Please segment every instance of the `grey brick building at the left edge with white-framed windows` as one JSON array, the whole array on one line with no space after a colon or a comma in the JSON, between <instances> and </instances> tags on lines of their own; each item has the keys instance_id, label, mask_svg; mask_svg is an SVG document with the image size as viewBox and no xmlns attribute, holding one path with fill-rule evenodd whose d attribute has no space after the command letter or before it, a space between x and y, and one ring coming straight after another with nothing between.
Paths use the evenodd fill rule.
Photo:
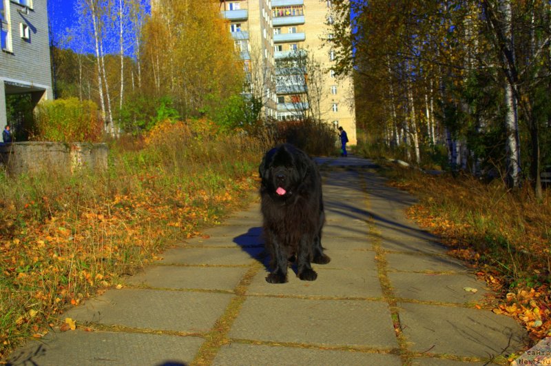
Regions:
<instances>
[{"instance_id":1,"label":"grey brick building at the left edge with white-framed windows","mask_svg":"<svg viewBox=\"0 0 551 366\"><path fill-rule=\"evenodd\" d=\"M0 126L17 133L17 121L7 121L7 95L30 94L34 105L53 99L46 1L0 0L0 41Z\"/></svg>"}]
</instances>

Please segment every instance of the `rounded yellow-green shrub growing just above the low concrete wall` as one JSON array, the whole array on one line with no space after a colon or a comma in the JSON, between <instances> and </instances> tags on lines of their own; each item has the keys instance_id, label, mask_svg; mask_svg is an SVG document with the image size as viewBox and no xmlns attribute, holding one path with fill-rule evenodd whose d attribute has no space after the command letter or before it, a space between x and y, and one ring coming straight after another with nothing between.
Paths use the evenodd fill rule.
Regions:
<instances>
[{"instance_id":1,"label":"rounded yellow-green shrub growing just above the low concrete wall","mask_svg":"<svg viewBox=\"0 0 551 366\"><path fill-rule=\"evenodd\" d=\"M34 121L35 141L98 142L103 131L96 104L76 98L39 103Z\"/></svg>"}]
</instances>

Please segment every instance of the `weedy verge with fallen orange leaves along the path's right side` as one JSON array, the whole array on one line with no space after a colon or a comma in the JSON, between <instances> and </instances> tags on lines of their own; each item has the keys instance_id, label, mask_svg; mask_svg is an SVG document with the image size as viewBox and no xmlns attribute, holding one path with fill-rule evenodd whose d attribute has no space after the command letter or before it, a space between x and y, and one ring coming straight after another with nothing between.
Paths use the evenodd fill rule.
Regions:
<instances>
[{"instance_id":1,"label":"weedy verge with fallen orange leaves along the path's right side","mask_svg":"<svg viewBox=\"0 0 551 366\"><path fill-rule=\"evenodd\" d=\"M498 182L382 170L419 203L407 214L439 235L450 253L470 262L499 291L493 312L514 316L534 340L551 335L551 192L508 192Z\"/></svg>"}]
</instances>

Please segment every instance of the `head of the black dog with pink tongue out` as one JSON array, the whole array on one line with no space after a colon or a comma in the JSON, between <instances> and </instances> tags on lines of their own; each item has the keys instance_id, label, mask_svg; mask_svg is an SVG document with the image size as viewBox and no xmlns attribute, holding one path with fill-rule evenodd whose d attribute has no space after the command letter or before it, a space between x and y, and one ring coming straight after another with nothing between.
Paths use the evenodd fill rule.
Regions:
<instances>
[{"instance_id":1,"label":"head of the black dog with pink tongue out","mask_svg":"<svg viewBox=\"0 0 551 366\"><path fill-rule=\"evenodd\" d=\"M262 190L275 199L287 199L293 195L308 172L306 154L293 145L283 144L264 155L258 172Z\"/></svg>"}]
</instances>

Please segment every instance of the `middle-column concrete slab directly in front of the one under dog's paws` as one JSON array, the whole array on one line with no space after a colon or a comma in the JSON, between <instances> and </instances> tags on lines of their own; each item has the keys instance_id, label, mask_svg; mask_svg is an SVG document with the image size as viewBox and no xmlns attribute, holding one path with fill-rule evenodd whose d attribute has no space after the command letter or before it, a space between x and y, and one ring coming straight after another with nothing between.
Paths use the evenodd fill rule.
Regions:
<instances>
[{"instance_id":1,"label":"middle-column concrete slab directly in front of the one under dog's paws","mask_svg":"<svg viewBox=\"0 0 551 366\"><path fill-rule=\"evenodd\" d=\"M229 338L302 344L397 347L391 312L378 301L247 297Z\"/></svg>"}]
</instances>

